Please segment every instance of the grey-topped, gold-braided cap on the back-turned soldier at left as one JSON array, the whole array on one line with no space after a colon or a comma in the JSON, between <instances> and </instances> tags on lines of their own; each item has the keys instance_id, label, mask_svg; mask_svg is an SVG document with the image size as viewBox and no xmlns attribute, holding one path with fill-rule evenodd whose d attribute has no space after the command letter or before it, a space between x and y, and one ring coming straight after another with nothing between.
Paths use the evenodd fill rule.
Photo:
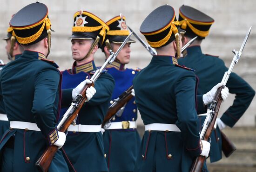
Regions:
<instances>
[{"instance_id":1,"label":"grey-topped, gold-braided cap on the back-turned soldier at left","mask_svg":"<svg viewBox=\"0 0 256 172\"><path fill-rule=\"evenodd\" d=\"M13 35L21 45L32 45L47 37L51 29L48 8L36 2L23 7L10 20Z\"/></svg>"}]
</instances>

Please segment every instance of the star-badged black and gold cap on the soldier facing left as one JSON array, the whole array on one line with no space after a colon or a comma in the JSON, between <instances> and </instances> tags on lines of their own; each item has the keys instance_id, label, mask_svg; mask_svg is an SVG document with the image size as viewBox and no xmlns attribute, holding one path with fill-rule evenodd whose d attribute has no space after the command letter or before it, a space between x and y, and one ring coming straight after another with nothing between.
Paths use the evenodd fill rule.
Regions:
<instances>
[{"instance_id":1,"label":"star-badged black and gold cap on the soldier facing left","mask_svg":"<svg viewBox=\"0 0 256 172\"><path fill-rule=\"evenodd\" d=\"M108 25L100 18L80 10L74 13L74 25L70 39L96 39L98 36L99 44L102 45L108 30Z\"/></svg>"}]
</instances>

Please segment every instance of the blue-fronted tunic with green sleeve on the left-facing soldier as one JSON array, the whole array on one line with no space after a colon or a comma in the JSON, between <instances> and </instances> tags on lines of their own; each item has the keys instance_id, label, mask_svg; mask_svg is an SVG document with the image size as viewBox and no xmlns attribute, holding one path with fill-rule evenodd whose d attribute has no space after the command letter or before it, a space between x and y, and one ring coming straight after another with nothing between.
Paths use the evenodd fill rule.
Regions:
<instances>
[{"instance_id":1,"label":"blue-fronted tunic with green sleeve on the left-facing soldier","mask_svg":"<svg viewBox=\"0 0 256 172\"><path fill-rule=\"evenodd\" d=\"M71 105L72 98L67 100L66 96L72 93L72 89L86 78L90 79L96 67L94 61L77 66L73 64L72 69L62 72L62 89L70 89L70 93L62 94L61 115ZM115 86L115 81L108 73L102 73L95 82L96 93L93 98L84 103L77 117L76 124L100 125L104 115L108 111L108 103ZM72 88L72 89L71 89ZM63 146L63 153L73 172L105 172L108 171L104 157L104 146L101 132L68 132L67 140Z\"/></svg>"}]
</instances>

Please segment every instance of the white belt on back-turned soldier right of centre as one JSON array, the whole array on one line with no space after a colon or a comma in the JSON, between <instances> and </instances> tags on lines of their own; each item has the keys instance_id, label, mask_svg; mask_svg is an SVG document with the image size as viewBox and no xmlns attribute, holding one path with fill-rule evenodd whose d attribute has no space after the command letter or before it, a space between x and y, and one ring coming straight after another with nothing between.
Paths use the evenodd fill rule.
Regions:
<instances>
[{"instance_id":1,"label":"white belt on back-turned soldier right of centre","mask_svg":"<svg viewBox=\"0 0 256 172\"><path fill-rule=\"evenodd\" d=\"M176 131L181 132L175 124L162 124L162 123L153 123L145 125L145 131Z\"/></svg>"}]
</instances>

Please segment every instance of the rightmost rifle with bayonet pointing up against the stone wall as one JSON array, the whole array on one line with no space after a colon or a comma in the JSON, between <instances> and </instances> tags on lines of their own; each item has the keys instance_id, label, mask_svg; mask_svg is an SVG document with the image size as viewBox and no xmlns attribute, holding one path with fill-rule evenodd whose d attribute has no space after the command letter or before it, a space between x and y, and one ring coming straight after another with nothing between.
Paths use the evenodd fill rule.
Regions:
<instances>
[{"instance_id":1,"label":"rightmost rifle with bayonet pointing up against the stone wall","mask_svg":"<svg viewBox=\"0 0 256 172\"><path fill-rule=\"evenodd\" d=\"M222 103L221 90L225 87L225 85L229 79L230 73L233 70L234 65L238 63L238 60L240 59L240 57L242 55L242 51L247 42L247 39L249 38L250 31L251 31L251 27L249 28L249 30L243 40L243 44L242 44L240 50L232 51L235 55L234 55L233 60L229 66L229 70L225 72L225 74L222 78L223 86L217 89L214 100L212 101L209 108L207 109L207 115L206 115L205 121L203 123L202 130L200 132L201 140L206 140L206 141L209 140L212 130L216 128L216 119L217 119L217 115L219 112L219 108ZM201 156L201 155L196 157L190 172L201 172L205 159L206 159L205 156Z\"/></svg>"}]
</instances>

